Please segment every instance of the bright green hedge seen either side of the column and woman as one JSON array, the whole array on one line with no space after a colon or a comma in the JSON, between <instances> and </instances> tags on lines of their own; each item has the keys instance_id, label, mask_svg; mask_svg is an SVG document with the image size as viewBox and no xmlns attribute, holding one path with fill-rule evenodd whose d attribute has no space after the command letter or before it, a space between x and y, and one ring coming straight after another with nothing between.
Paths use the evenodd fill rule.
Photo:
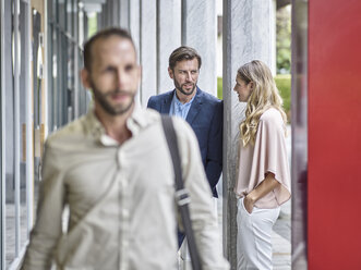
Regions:
<instances>
[{"instance_id":1,"label":"bright green hedge seen either side of the column and woman","mask_svg":"<svg viewBox=\"0 0 361 270\"><path fill-rule=\"evenodd\" d=\"M288 121L290 121L291 111L291 75L290 74L278 74L275 77L277 88L280 96L284 99L284 109L287 113ZM232 90L232 89L230 89ZM222 78L217 77L217 96L222 99Z\"/></svg>"}]
</instances>

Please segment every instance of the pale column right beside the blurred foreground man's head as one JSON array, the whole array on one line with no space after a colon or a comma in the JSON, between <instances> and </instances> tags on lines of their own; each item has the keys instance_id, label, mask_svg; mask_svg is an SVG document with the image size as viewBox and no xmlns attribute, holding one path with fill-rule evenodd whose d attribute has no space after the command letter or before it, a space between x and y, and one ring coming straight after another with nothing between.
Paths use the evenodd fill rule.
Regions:
<instances>
[{"instance_id":1,"label":"pale column right beside the blurred foreground man's head","mask_svg":"<svg viewBox=\"0 0 361 270\"><path fill-rule=\"evenodd\" d=\"M141 103L157 94L157 2L141 0ZM168 36L168 38L171 38Z\"/></svg>"}]
</instances>

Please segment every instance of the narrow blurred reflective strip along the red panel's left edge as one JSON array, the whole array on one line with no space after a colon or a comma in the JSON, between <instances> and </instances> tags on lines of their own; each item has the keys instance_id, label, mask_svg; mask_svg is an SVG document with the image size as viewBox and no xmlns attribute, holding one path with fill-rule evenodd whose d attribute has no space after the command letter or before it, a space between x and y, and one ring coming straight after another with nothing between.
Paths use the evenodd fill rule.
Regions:
<instances>
[{"instance_id":1,"label":"narrow blurred reflective strip along the red panel's left edge","mask_svg":"<svg viewBox=\"0 0 361 270\"><path fill-rule=\"evenodd\" d=\"M292 269L306 269L308 1L292 2Z\"/></svg>"}]
</instances>

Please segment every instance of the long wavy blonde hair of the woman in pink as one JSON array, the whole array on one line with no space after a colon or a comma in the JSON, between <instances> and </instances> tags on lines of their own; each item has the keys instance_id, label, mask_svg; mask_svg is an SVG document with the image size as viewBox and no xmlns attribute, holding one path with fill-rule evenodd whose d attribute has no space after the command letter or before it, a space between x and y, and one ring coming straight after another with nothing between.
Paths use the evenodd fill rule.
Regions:
<instances>
[{"instance_id":1,"label":"long wavy blonde hair of the woman in pink","mask_svg":"<svg viewBox=\"0 0 361 270\"><path fill-rule=\"evenodd\" d=\"M239 68L237 76L246 85L253 83L252 93L246 101L245 119L240 124L240 137L243 146L254 145L261 115L269 108L277 109L284 123L287 116L282 109L282 98L279 96L275 79L268 66L260 60L253 60Z\"/></svg>"}]
</instances>

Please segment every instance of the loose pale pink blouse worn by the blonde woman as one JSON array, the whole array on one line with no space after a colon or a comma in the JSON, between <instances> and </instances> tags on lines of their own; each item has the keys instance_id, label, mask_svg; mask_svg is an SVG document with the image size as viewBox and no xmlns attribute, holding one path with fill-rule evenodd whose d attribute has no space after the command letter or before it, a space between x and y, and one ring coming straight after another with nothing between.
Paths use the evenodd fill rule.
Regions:
<instances>
[{"instance_id":1,"label":"loose pale pink blouse worn by the blonde woman","mask_svg":"<svg viewBox=\"0 0 361 270\"><path fill-rule=\"evenodd\" d=\"M274 108L261 115L254 146L243 147L240 142L236 195L243 197L252 192L267 172L274 173L280 185L258 199L254 205L257 208L276 208L291 196L285 124L280 112Z\"/></svg>"}]
</instances>

